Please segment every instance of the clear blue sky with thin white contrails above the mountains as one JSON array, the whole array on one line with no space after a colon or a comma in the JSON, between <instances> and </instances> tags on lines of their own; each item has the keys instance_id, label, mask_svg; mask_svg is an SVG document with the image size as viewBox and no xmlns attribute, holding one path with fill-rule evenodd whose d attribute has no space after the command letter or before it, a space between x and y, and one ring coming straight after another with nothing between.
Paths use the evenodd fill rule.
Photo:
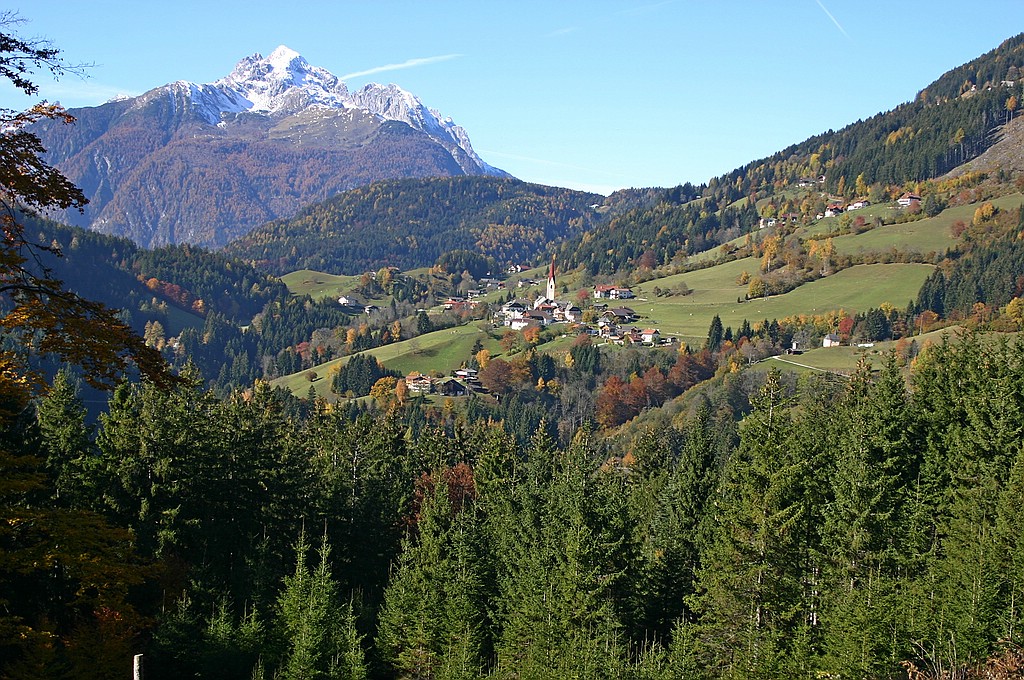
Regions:
<instances>
[{"instance_id":1,"label":"clear blue sky with thin white contrails above the mountains","mask_svg":"<svg viewBox=\"0 0 1024 680\"><path fill-rule=\"evenodd\" d=\"M466 128L492 165L609 193L707 181L914 97L1024 32L1024 2L32 0L23 36L89 77L40 95L95 105L212 82L280 44L393 82ZM0 105L32 100L0 88Z\"/></svg>"}]
</instances>

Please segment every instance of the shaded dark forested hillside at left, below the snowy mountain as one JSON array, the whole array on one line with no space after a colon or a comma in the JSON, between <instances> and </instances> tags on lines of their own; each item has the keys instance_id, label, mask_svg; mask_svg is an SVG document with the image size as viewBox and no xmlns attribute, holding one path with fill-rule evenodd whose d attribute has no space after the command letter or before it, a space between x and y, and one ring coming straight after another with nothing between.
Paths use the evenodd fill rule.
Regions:
<instances>
[{"instance_id":1,"label":"shaded dark forested hillside at left, below the snowy mountain","mask_svg":"<svg viewBox=\"0 0 1024 680\"><path fill-rule=\"evenodd\" d=\"M178 368L195 365L221 393L264 377L263 356L351 318L333 300L293 297L280 280L203 248L145 250L56 222L26 223L39 243L60 253L42 253L39 264L68 290L120 310L150 346ZM254 318L257 327L247 332Z\"/></svg>"}]
</instances>

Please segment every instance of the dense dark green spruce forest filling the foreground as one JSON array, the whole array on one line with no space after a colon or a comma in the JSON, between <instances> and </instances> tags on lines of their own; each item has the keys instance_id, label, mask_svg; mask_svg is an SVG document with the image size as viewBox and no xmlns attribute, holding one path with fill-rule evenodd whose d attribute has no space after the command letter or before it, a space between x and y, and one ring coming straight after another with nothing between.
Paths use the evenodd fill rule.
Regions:
<instances>
[{"instance_id":1,"label":"dense dark green spruce forest filling the foreground","mask_svg":"<svg viewBox=\"0 0 1024 680\"><path fill-rule=\"evenodd\" d=\"M36 530L4 529L0 668L975 677L1021 653L1021 358L967 336L909 387L895 357L770 372L738 425L707 392L622 445L195 383L124 386L93 433L65 376L5 421L4 479L35 483L0 502Z\"/></svg>"}]
</instances>

